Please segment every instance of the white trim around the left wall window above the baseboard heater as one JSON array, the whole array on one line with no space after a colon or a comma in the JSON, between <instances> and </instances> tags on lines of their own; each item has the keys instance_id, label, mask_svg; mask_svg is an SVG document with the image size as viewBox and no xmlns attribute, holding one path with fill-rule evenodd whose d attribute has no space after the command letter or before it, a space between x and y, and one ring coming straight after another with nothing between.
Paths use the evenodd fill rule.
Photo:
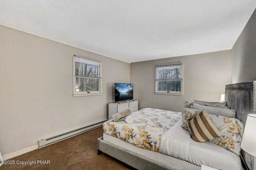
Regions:
<instances>
[{"instance_id":1,"label":"white trim around the left wall window above the baseboard heater","mask_svg":"<svg viewBox=\"0 0 256 170\"><path fill-rule=\"evenodd\" d=\"M75 68L75 63L76 63L76 57L82 57L80 55L74 55L73 56L73 96L74 97L78 97L78 96L95 96L95 95L102 95L102 63L98 60L93 60L93 59L90 59L90 58L86 58L86 57L82 57L84 59L88 59L88 60L91 60L91 61L96 61L99 63L100 65L100 75L101 75L101 78L100 78L100 82L99 82L99 89L100 91L90 91L90 93L88 92L76 92L76 68Z\"/></svg>"}]
</instances>

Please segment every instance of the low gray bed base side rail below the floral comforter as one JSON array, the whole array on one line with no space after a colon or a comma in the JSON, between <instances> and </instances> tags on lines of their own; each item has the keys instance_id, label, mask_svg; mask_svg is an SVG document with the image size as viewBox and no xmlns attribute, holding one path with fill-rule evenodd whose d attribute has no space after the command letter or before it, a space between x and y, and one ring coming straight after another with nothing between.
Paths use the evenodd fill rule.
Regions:
<instances>
[{"instance_id":1,"label":"low gray bed base side rail below the floral comforter","mask_svg":"<svg viewBox=\"0 0 256 170\"><path fill-rule=\"evenodd\" d=\"M130 150L112 144L103 140L103 136L98 138L98 154L102 152L136 168L138 170L200 170L200 166L196 166L184 160L173 158L172 167L166 166L140 154L136 154ZM171 156L170 156L171 157Z\"/></svg>"}]
</instances>

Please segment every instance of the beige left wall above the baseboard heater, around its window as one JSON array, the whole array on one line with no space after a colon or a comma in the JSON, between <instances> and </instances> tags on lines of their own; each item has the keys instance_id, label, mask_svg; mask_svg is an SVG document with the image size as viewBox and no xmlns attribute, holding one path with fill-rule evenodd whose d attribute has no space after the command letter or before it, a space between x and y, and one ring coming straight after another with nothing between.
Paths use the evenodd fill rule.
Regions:
<instances>
[{"instance_id":1,"label":"beige left wall above the baseboard heater, around its window","mask_svg":"<svg viewBox=\"0 0 256 170\"><path fill-rule=\"evenodd\" d=\"M73 97L74 54L102 61L102 95ZM130 64L0 26L2 155L106 120L115 82L130 83Z\"/></svg>"}]
</instances>

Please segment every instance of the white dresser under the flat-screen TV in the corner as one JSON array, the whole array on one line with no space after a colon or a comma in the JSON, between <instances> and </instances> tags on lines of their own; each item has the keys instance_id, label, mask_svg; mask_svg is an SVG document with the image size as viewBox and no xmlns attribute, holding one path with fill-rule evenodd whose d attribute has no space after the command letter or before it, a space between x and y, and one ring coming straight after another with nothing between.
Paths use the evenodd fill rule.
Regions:
<instances>
[{"instance_id":1,"label":"white dresser under the flat-screen TV in the corner","mask_svg":"<svg viewBox=\"0 0 256 170\"><path fill-rule=\"evenodd\" d=\"M108 103L108 120L112 119L112 115L130 108L132 112L138 111L138 100L119 101L119 103Z\"/></svg>"}]
</instances>

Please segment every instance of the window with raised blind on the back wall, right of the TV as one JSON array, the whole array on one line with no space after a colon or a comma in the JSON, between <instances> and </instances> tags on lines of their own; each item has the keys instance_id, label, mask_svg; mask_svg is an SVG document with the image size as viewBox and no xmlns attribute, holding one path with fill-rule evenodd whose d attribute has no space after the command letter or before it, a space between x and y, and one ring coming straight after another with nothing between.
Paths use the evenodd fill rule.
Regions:
<instances>
[{"instance_id":1,"label":"window with raised blind on the back wall, right of the TV","mask_svg":"<svg viewBox=\"0 0 256 170\"><path fill-rule=\"evenodd\" d=\"M182 64L156 66L156 94L182 95Z\"/></svg>"}]
</instances>

